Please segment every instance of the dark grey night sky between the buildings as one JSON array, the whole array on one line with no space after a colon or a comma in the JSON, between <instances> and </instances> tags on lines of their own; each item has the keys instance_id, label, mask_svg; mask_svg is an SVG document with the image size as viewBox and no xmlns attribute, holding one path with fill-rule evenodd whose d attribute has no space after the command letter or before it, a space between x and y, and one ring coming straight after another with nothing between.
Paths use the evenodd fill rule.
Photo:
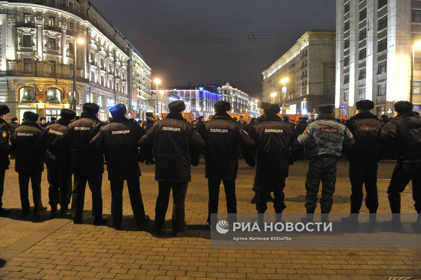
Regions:
<instances>
[{"instance_id":1,"label":"dark grey night sky between the buildings","mask_svg":"<svg viewBox=\"0 0 421 280\"><path fill-rule=\"evenodd\" d=\"M258 96L261 72L305 31L335 29L334 0L90 1L163 87L228 81Z\"/></svg>"}]
</instances>

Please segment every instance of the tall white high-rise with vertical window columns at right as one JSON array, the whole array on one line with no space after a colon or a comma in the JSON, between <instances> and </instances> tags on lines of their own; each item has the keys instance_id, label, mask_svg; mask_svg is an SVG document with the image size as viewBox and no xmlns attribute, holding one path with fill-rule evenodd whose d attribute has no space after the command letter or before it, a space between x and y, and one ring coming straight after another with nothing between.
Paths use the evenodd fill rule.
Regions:
<instances>
[{"instance_id":1,"label":"tall white high-rise with vertical window columns at right","mask_svg":"<svg viewBox=\"0 0 421 280\"><path fill-rule=\"evenodd\" d=\"M373 114L394 116L394 102L410 100L418 40L421 1L336 0L336 116L353 116L363 99L373 100ZM421 50L414 62L413 103L420 112Z\"/></svg>"}]
</instances>

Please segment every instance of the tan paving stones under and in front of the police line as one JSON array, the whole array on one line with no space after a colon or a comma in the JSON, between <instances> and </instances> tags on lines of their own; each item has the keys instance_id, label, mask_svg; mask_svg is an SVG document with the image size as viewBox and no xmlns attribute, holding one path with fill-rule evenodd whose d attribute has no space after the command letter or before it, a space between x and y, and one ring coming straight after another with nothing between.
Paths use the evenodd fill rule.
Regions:
<instances>
[{"instance_id":1,"label":"tan paving stones under and in front of the police line","mask_svg":"<svg viewBox=\"0 0 421 280\"><path fill-rule=\"evenodd\" d=\"M379 213L389 213L386 188L394 161L379 164ZM145 211L155 217L157 182L155 166L141 164L141 192ZM307 161L290 166L286 181L284 213L303 213ZM254 169L240 161L237 178L239 213L255 213L250 203ZM348 163L338 163L338 179L332 211L349 211ZM43 172L42 200L48 206L48 183ZM13 161L6 171L3 205L12 214L0 217L0 278L25 279L420 279L420 249L210 249L207 218L207 180L204 164L192 168L186 199L187 232L174 238L170 230L154 232L153 222L137 226L124 190L121 231L91 225L91 195L85 195L84 224L69 219L49 219L49 211L35 219L20 213L18 177ZM107 174L103 177L104 214L110 216L111 193ZM29 192L30 193L30 192ZM219 211L226 211L221 191ZM32 198L29 198L31 201ZM268 207L268 213L274 213ZM318 209L320 211L320 209ZM167 226L171 228L172 205ZM367 213L364 204L362 212ZM402 212L415 213L411 188L402 194ZM111 218L110 218L111 219ZM390 278L392 279L392 278ZM409 279L409 278L408 278Z\"/></svg>"}]
</instances>

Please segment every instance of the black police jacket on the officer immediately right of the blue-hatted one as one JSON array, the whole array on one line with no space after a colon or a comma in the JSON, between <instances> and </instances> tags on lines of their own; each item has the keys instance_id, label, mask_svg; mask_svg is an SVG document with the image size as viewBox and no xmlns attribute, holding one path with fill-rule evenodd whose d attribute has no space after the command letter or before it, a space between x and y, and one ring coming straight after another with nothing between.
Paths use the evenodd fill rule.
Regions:
<instances>
[{"instance_id":1,"label":"black police jacket on the officer immediately right of the blue-hatted one","mask_svg":"<svg viewBox=\"0 0 421 280\"><path fill-rule=\"evenodd\" d=\"M205 148L202 137L181 114L170 113L156 122L139 141L139 147L153 146L155 180L163 182L190 182L190 154ZM192 150L192 151L191 151Z\"/></svg>"}]
</instances>

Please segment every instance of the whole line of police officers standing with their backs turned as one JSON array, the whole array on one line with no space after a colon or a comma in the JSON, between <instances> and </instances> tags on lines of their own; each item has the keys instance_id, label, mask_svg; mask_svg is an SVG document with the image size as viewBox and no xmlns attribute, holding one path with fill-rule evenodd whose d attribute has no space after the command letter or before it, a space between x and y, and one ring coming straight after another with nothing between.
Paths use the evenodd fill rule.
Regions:
<instances>
[{"instance_id":1,"label":"whole line of police officers standing with their backs turned","mask_svg":"<svg viewBox=\"0 0 421 280\"><path fill-rule=\"evenodd\" d=\"M261 116L249 124L242 117L233 121L228 114L232 108L227 101L216 103L215 115L206 122L200 117L188 123L183 117L185 105L182 100L176 100L168 107L170 113L165 119L155 121L154 116L147 113L145 122L136 122L126 117L127 109L123 104L117 104L110 108L112 119L104 123L97 117L99 106L85 103L80 117L73 110L63 109L59 120L51 119L45 125L45 119L38 124L39 116L27 111L19 125L17 118L13 118L11 124L6 122L10 110L0 105L0 214L10 211L1 203L10 155L15 159L15 171L19 174L21 207L25 215L30 211L29 180L35 214L47 209L41 201L41 174L45 163L51 218L72 217L75 224L82 223L88 183L92 193L93 225L106 224L108 217L102 215L101 195L105 158L112 193L112 226L121 229L124 181L127 182L136 222L146 222L150 218L145 214L139 180L139 162L145 161L145 164L155 164L155 180L158 182L156 231L163 230L172 190L173 235L178 236L187 230L184 200L191 181L191 165L197 166L199 155L204 152L209 191L206 225L213 227L216 221L211 220L210 214L218 213L221 182L227 212L237 213L238 147L247 164L256 166L253 184L256 223L263 222L268 200L273 201L277 222L283 222L285 178L293 161L304 155L304 148L305 156L309 158L309 170L303 222L313 220L320 181L322 221L328 221L335 192L336 163L342 154L350 161L350 213L360 212L364 185L367 193L365 204L370 214L375 214L378 208L378 161L391 149L397 158L387 190L391 211L400 213L400 193L412 180L415 209L421 213L421 117L413 112L413 104L408 101L394 104L397 116L388 119L387 124L371 113L374 103L370 100L358 101L358 114L345 124L333 116L333 104L318 106L316 119L308 122L302 117L296 125L288 118L280 117L278 104L267 102L261 102ZM232 218L228 222L235 221L235 215L229 217ZM358 216L350 215L344 220L357 224ZM375 223L375 215L370 215L370 224ZM394 215L386 225L400 227L402 224L399 216ZM413 226L421 227L421 219Z\"/></svg>"}]
</instances>

